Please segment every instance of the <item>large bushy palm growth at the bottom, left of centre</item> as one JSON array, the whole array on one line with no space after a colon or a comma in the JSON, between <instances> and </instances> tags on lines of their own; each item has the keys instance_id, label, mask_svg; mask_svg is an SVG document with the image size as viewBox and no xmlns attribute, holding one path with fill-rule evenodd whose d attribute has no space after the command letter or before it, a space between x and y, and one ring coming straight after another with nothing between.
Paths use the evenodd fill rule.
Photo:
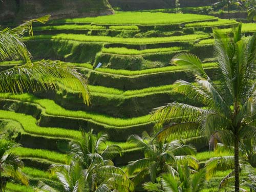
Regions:
<instances>
[{"instance_id":1,"label":"large bushy palm growth at the bottom, left of centre","mask_svg":"<svg viewBox=\"0 0 256 192\"><path fill-rule=\"evenodd\" d=\"M118 145L103 146L107 135L93 134L93 130L86 133L81 131L81 139L70 142L71 163L69 165L52 165L51 171L56 173L65 191L133 191L133 183L119 167L111 161L115 155L121 153ZM53 191L42 184L41 189Z\"/></svg>"}]
</instances>

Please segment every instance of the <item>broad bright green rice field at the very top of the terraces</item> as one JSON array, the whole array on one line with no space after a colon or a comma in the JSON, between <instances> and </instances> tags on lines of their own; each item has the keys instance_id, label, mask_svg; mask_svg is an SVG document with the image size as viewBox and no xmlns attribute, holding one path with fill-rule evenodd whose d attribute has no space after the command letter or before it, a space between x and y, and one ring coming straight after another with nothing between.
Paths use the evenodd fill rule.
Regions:
<instances>
[{"instance_id":1,"label":"broad bright green rice field at the very top of the terraces","mask_svg":"<svg viewBox=\"0 0 256 192\"><path fill-rule=\"evenodd\" d=\"M94 23L94 24L181 24L200 20L215 19L214 16L196 14L169 14L151 12L115 12L114 15L86 17L86 18L67 18L52 21L52 23L75 22L75 23Z\"/></svg>"}]
</instances>

